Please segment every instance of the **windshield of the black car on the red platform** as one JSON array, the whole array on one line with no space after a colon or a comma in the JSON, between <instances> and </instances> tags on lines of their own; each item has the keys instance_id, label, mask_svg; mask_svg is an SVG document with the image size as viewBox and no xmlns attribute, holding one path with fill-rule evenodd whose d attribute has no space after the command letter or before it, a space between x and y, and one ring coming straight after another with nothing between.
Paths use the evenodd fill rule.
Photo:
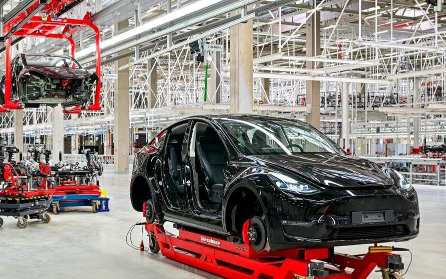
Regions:
<instances>
[{"instance_id":1,"label":"windshield of the black car on the red platform","mask_svg":"<svg viewBox=\"0 0 446 279\"><path fill-rule=\"evenodd\" d=\"M245 155L341 153L317 129L299 121L255 118L215 118Z\"/></svg>"}]
</instances>

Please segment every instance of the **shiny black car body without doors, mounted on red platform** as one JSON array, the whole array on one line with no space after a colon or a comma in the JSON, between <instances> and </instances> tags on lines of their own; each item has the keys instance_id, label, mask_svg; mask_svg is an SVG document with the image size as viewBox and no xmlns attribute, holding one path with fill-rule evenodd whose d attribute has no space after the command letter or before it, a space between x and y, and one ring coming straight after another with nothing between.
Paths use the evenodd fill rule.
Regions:
<instances>
[{"instance_id":1,"label":"shiny black car body without doors, mounted on red platform","mask_svg":"<svg viewBox=\"0 0 446 279\"><path fill-rule=\"evenodd\" d=\"M138 211L151 200L160 221L230 239L261 218L272 249L419 233L417 193L403 175L289 118L209 115L170 125L135 155L130 198Z\"/></svg>"}]
</instances>

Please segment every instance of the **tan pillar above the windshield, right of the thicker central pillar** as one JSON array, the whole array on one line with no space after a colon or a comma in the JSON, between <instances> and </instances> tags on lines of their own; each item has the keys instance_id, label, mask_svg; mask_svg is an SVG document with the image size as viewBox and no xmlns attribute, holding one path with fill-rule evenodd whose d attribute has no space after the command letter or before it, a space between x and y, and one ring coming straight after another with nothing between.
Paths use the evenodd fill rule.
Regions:
<instances>
[{"instance_id":1,"label":"tan pillar above the windshield, right of the thicker central pillar","mask_svg":"<svg viewBox=\"0 0 446 279\"><path fill-rule=\"evenodd\" d=\"M316 0L314 6L316 7ZM321 12L316 11L307 20L307 56L321 54ZM313 69L314 61L307 61L307 69ZM307 122L319 128L321 126L321 82L307 80L306 102L311 112L307 115Z\"/></svg>"}]
</instances>

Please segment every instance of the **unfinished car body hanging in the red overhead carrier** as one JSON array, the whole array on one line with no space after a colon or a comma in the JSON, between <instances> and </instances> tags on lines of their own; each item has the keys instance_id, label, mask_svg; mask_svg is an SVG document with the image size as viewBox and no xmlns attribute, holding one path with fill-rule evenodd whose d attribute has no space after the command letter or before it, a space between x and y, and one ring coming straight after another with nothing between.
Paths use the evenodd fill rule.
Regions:
<instances>
[{"instance_id":1,"label":"unfinished car body hanging in the red overhead carrier","mask_svg":"<svg viewBox=\"0 0 446 279\"><path fill-rule=\"evenodd\" d=\"M63 107L84 105L93 93L98 76L72 57L21 53L11 61L11 100L25 107L40 104ZM4 104L5 76L0 81L0 104Z\"/></svg>"}]
</instances>

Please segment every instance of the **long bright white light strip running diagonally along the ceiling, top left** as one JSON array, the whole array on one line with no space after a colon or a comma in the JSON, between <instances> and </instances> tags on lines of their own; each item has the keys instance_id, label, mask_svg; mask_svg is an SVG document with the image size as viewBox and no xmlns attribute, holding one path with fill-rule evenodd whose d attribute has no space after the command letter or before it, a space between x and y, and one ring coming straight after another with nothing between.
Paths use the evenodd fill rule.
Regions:
<instances>
[{"instance_id":1,"label":"long bright white light strip running diagonally along the ceiling, top left","mask_svg":"<svg viewBox=\"0 0 446 279\"><path fill-rule=\"evenodd\" d=\"M149 31L153 28L156 28L158 26L166 24L170 21L187 16L187 15L191 14L192 12L195 12L197 10L202 10L203 8L206 8L208 6L211 6L213 4L216 4L216 3L222 2L222 1L223 0L199 0L195 3L192 3L192 4L186 5L184 7L181 7L179 9L176 9L168 14L164 14L154 20L147 22L147 23L144 23L142 25L134 27L131 30L117 34L116 36L113 36L109 39L101 40L99 45L101 48L112 46L120 41L126 40L126 39L131 38L135 35ZM95 51L96 51L96 45L92 44L82 50L77 51L75 53L75 56L76 56L76 58L79 58L79 57L85 56L87 54L93 53Z\"/></svg>"}]
</instances>

